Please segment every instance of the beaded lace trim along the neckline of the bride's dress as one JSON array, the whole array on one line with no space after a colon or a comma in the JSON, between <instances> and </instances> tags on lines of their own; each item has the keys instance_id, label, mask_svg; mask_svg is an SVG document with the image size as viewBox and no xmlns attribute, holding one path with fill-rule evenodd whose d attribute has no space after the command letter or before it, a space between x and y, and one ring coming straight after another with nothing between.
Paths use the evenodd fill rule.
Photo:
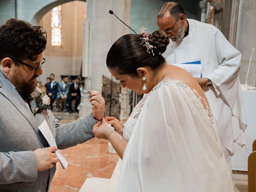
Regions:
<instances>
[{"instance_id":1,"label":"beaded lace trim along the neckline of the bride's dress","mask_svg":"<svg viewBox=\"0 0 256 192\"><path fill-rule=\"evenodd\" d=\"M138 120L140 111L142 110L142 107L144 106L144 102L145 102L146 98L148 98L148 96L150 96L150 94L152 94L152 92L154 92L161 86L169 85L169 84L176 84L177 86L181 86L183 88L188 88L190 91L192 91L196 95L196 97L200 100L201 104L202 104L201 101L203 100L206 108L204 108L203 104L202 104L202 107L204 108L204 110L205 110L206 114L209 116L209 118L211 118L211 121L213 123L212 112L210 110L210 107L208 106L208 103L204 100L204 98L202 98L198 94L198 92L196 90L192 90L190 87L188 87L184 82L182 82L180 80L166 79L166 80L160 81L156 86L154 86L154 88L148 94L145 94L144 97L142 98L142 100L140 100L140 102L138 102L138 104L134 107L130 117L128 118L128 120L126 121L126 123L124 125L123 137L125 140L128 141L130 139L130 136L132 135L132 131L133 131L135 124Z\"/></svg>"}]
</instances>

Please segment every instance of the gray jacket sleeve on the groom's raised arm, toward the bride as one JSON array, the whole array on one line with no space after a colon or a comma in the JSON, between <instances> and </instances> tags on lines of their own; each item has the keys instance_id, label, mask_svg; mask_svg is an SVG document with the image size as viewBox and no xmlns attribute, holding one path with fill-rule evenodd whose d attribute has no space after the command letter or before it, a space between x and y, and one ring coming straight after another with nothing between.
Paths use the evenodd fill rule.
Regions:
<instances>
[{"instance_id":1,"label":"gray jacket sleeve on the groom's raised arm, toward the bride","mask_svg":"<svg viewBox=\"0 0 256 192\"><path fill-rule=\"evenodd\" d=\"M96 122L91 114L63 125L60 125L57 119L54 119L54 121L56 127L55 140L59 149L76 146L94 137L92 128Z\"/></svg>"}]
</instances>

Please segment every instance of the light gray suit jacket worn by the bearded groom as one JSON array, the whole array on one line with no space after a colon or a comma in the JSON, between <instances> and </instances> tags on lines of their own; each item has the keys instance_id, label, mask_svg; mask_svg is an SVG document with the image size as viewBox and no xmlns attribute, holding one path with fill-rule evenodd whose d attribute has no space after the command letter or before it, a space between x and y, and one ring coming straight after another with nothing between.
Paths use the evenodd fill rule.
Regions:
<instances>
[{"instance_id":1,"label":"light gray suit jacket worn by the bearded groom","mask_svg":"<svg viewBox=\"0 0 256 192\"><path fill-rule=\"evenodd\" d=\"M36 90L29 96L37 96ZM36 108L34 100L30 102ZM60 125L52 112L34 116L0 71L0 192L46 192L56 171L54 168L38 172L34 150L44 148L38 126L46 120L58 148L65 149L93 137L96 123L92 115L79 118L70 124Z\"/></svg>"}]
</instances>

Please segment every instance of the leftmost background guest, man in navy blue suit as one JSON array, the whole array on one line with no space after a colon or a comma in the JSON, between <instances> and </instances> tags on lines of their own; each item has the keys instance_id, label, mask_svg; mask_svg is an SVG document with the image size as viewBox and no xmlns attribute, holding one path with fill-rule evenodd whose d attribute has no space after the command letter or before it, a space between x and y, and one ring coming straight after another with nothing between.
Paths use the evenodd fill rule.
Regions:
<instances>
[{"instance_id":1,"label":"leftmost background guest, man in navy blue suit","mask_svg":"<svg viewBox=\"0 0 256 192\"><path fill-rule=\"evenodd\" d=\"M50 97L50 106L52 110L52 104L54 100L57 98L58 94L58 82L55 81L55 75L52 73L50 74L51 81L46 85L46 94Z\"/></svg>"}]
</instances>

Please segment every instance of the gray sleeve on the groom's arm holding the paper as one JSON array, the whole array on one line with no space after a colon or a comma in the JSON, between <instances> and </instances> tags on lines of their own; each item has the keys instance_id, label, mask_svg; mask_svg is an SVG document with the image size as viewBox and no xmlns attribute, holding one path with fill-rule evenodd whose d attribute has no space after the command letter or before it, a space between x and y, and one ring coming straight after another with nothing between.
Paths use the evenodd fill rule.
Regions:
<instances>
[{"instance_id":1,"label":"gray sleeve on the groom's arm holding the paper","mask_svg":"<svg viewBox=\"0 0 256 192\"><path fill-rule=\"evenodd\" d=\"M0 184L34 182L37 174L34 152L0 152Z\"/></svg>"}]
</instances>

